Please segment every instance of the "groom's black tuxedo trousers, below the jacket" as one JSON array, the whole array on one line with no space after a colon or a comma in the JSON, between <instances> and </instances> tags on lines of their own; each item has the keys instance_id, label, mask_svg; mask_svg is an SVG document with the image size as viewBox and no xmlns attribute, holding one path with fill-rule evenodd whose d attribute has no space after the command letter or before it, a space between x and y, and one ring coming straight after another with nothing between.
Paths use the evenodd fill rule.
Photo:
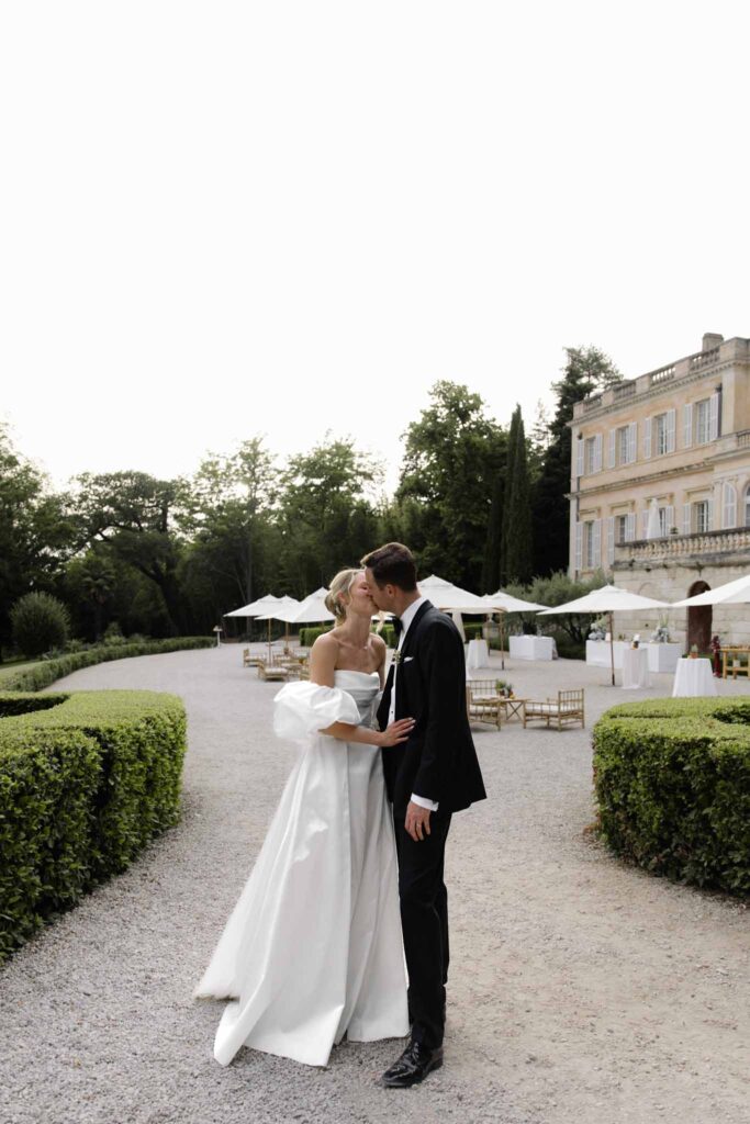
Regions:
<instances>
[{"instance_id":1,"label":"groom's black tuxedo trousers, below the jacket","mask_svg":"<svg viewBox=\"0 0 750 1124\"><path fill-rule=\"evenodd\" d=\"M431 833L418 842L406 832L405 818L406 809L394 810L412 1037L434 1050L443 1043L450 960L448 890L443 879L451 813L433 812Z\"/></svg>"}]
</instances>

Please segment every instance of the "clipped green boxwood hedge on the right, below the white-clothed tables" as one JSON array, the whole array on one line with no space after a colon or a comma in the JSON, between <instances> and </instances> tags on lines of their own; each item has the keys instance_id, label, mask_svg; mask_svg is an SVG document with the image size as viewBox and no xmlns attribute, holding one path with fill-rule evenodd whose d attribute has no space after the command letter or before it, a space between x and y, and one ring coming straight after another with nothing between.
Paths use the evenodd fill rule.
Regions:
<instances>
[{"instance_id":1,"label":"clipped green boxwood hedge on the right, below the white-clothed tables","mask_svg":"<svg viewBox=\"0 0 750 1124\"><path fill-rule=\"evenodd\" d=\"M607 843L657 874L750 894L750 699L654 699L594 728Z\"/></svg>"}]
</instances>

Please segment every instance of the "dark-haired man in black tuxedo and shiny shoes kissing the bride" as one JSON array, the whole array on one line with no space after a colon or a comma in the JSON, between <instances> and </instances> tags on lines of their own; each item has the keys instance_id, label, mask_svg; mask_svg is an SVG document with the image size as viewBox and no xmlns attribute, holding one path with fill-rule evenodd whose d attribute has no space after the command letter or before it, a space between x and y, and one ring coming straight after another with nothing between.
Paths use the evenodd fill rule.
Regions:
<instances>
[{"instance_id":1,"label":"dark-haired man in black tuxedo and shiny shoes kissing the bride","mask_svg":"<svg viewBox=\"0 0 750 1124\"><path fill-rule=\"evenodd\" d=\"M407 742L383 749L394 807L412 1039L382 1078L416 1085L443 1064L448 981L448 891L443 882L451 814L484 800L466 706L463 644L450 617L417 589L408 547L387 543L362 559L377 607L396 614L398 642L378 723L412 717Z\"/></svg>"}]
</instances>

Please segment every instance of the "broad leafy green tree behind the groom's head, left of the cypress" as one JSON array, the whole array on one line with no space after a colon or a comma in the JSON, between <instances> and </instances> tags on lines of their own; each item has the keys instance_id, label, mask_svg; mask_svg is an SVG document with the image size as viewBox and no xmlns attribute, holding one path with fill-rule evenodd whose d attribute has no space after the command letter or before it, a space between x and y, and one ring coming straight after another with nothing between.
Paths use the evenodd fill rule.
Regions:
<instances>
[{"instance_id":1,"label":"broad leafy green tree behind the groom's head, left of the cypress","mask_svg":"<svg viewBox=\"0 0 750 1124\"><path fill-rule=\"evenodd\" d=\"M476 590L487 578L487 527L506 435L479 395L441 381L406 430L396 508L419 572Z\"/></svg>"}]
</instances>

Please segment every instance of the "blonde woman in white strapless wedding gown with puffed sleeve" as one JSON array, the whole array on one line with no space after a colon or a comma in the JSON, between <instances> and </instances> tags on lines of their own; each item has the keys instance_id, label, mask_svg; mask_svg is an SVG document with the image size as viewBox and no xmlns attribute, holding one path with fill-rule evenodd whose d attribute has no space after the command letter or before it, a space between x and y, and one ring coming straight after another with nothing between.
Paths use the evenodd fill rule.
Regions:
<instances>
[{"instance_id":1,"label":"blonde woman in white strapless wedding gown with puffed sleeve","mask_svg":"<svg viewBox=\"0 0 750 1124\"><path fill-rule=\"evenodd\" d=\"M241 1046L325 1066L343 1039L408 1034L394 825L380 746L410 718L372 728L386 645L364 572L342 570L336 627L311 651L310 681L275 697L273 728L304 744L197 998L229 999L214 1057Z\"/></svg>"}]
</instances>

